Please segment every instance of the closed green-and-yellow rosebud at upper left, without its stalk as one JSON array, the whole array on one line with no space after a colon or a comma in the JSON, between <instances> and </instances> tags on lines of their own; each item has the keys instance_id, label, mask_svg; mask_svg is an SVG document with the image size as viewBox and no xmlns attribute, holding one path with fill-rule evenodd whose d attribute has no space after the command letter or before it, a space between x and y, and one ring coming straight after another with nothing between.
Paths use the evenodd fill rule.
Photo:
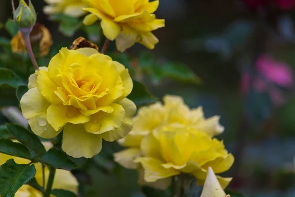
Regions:
<instances>
[{"instance_id":1,"label":"closed green-and-yellow rosebud at upper left, without its stalk","mask_svg":"<svg viewBox=\"0 0 295 197\"><path fill-rule=\"evenodd\" d=\"M32 28L37 20L37 15L29 0L29 6L25 0L20 0L18 8L13 15L14 22L18 28Z\"/></svg>"}]
</instances>

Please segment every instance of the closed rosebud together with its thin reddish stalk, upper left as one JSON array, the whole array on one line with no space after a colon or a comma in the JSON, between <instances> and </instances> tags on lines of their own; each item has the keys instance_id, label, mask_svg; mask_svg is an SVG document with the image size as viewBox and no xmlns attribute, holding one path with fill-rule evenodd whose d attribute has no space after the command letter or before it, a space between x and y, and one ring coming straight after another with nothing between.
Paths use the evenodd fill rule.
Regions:
<instances>
[{"instance_id":1,"label":"closed rosebud together with its thin reddish stalk, upper left","mask_svg":"<svg viewBox=\"0 0 295 197\"><path fill-rule=\"evenodd\" d=\"M32 47L30 44L30 38L29 38L29 34L31 33L37 20L37 14L36 14L35 8L30 0L29 0L29 6L25 0L20 0L19 6L17 9L15 9L14 3L12 0L12 7L13 7L14 23L19 28L20 32L23 33L25 37L29 57L33 63L33 66L36 69L38 69L38 65L34 57Z\"/></svg>"}]
</instances>

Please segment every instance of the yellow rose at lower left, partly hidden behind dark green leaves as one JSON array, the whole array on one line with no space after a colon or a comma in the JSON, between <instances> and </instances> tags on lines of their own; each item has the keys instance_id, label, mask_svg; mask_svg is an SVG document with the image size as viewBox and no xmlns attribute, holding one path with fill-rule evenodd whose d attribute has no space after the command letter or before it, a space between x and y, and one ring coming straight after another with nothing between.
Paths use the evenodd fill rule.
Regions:
<instances>
[{"instance_id":1,"label":"yellow rose at lower left, partly hidden behind dark green leaves","mask_svg":"<svg viewBox=\"0 0 295 197\"><path fill-rule=\"evenodd\" d=\"M50 149L52 147L52 144L50 142L43 142L43 145L45 146L46 150ZM0 153L0 165L4 164L7 160L13 159L17 164L29 164L31 161L19 158L19 157L13 157L9 155L4 155ZM34 164L36 167L36 181L37 183L43 187L43 171L42 171L42 164L36 163ZM47 181L49 177L49 169L45 167L45 180ZM45 183L47 185L47 183ZM75 194L78 194L78 181L74 175L70 171L57 169L54 182L53 182L53 189L62 189L62 190L68 190ZM42 197L42 193L40 193L38 190L32 188L29 185L23 185L16 193L15 197Z\"/></svg>"}]
</instances>

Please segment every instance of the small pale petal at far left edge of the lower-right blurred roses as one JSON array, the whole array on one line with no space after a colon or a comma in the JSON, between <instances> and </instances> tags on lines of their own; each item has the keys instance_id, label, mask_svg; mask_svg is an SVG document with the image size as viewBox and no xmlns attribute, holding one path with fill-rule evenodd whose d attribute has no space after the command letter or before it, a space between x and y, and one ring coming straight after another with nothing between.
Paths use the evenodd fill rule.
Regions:
<instances>
[{"instance_id":1,"label":"small pale petal at far left edge of the lower-right blurred roses","mask_svg":"<svg viewBox=\"0 0 295 197\"><path fill-rule=\"evenodd\" d=\"M133 160L141 155L140 149L128 148L114 154L115 161L127 169L137 169Z\"/></svg>"}]
</instances>

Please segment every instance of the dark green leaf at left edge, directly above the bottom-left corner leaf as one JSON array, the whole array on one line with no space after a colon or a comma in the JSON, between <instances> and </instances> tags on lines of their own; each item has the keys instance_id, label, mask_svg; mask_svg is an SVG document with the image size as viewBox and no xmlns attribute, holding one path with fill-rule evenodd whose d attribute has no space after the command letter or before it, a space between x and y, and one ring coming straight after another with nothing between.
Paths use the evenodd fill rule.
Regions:
<instances>
[{"instance_id":1,"label":"dark green leaf at left edge, directly above the bottom-left corner leaf","mask_svg":"<svg viewBox=\"0 0 295 197\"><path fill-rule=\"evenodd\" d=\"M29 149L21 143L0 139L0 153L30 160Z\"/></svg>"}]
</instances>

